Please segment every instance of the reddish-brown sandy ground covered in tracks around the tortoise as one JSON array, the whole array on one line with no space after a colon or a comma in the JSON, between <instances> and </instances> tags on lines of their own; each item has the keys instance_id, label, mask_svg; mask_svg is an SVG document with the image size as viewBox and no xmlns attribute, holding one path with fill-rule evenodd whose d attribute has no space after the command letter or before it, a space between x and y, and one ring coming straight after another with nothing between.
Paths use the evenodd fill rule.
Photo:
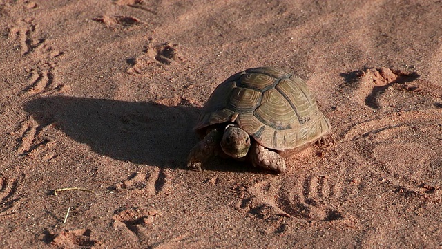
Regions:
<instances>
[{"instance_id":1,"label":"reddish-brown sandy ground covered in tracks around the tortoise","mask_svg":"<svg viewBox=\"0 0 442 249\"><path fill-rule=\"evenodd\" d=\"M0 247L442 246L441 1L208 2L0 0ZM335 145L186 169L257 66L307 80Z\"/></svg>"}]
</instances>

